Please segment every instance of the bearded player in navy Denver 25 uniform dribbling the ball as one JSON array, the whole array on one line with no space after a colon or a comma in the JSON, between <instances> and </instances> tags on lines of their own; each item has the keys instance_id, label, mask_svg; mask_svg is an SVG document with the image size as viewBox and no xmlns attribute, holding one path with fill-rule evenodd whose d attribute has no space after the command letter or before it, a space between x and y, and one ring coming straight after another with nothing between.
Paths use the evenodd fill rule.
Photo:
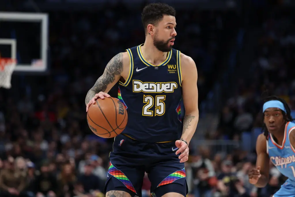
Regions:
<instances>
[{"instance_id":1,"label":"bearded player in navy Denver 25 uniform dribbling the ball","mask_svg":"<svg viewBox=\"0 0 295 197\"><path fill-rule=\"evenodd\" d=\"M141 196L145 172L157 197L186 196L184 162L199 119L196 64L172 49L175 10L162 3L142 12L145 43L119 53L86 95L86 111L119 81L118 99L128 112L109 158L106 197ZM181 124L180 103L185 116Z\"/></svg>"}]
</instances>

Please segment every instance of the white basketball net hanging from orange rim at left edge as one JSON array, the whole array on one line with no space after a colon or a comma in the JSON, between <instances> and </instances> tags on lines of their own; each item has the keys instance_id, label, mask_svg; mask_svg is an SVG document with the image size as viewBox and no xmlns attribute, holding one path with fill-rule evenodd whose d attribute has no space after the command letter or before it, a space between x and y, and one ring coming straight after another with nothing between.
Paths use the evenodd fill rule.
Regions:
<instances>
[{"instance_id":1,"label":"white basketball net hanging from orange rim at left edge","mask_svg":"<svg viewBox=\"0 0 295 197\"><path fill-rule=\"evenodd\" d=\"M15 65L15 59L1 58L0 54L0 87L11 88L11 76Z\"/></svg>"}]
</instances>

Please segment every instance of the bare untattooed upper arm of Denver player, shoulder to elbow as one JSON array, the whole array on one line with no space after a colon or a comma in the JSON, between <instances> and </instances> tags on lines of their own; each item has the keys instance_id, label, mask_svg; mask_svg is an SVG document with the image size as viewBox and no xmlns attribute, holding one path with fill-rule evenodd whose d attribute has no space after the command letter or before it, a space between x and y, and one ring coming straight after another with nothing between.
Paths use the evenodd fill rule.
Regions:
<instances>
[{"instance_id":1,"label":"bare untattooed upper arm of Denver player, shoulder to elbow","mask_svg":"<svg viewBox=\"0 0 295 197\"><path fill-rule=\"evenodd\" d=\"M181 87L183 104L186 111L198 110L198 72L196 64L192 59L187 64L189 65L186 65L182 71L183 80Z\"/></svg>"}]
</instances>

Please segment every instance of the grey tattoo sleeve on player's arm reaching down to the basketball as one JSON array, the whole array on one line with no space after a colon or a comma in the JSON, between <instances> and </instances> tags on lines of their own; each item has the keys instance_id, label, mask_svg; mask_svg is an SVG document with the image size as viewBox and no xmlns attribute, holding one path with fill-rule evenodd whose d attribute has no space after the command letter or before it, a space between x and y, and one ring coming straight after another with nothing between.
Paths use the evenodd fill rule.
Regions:
<instances>
[{"instance_id":1,"label":"grey tattoo sleeve on player's arm reaching down to the basketball","mask_svg":"<svg viewBox=\"0 0 295 197\"><path fill-rule=\"evenodd\" d=\"M104 92L108 84L111 84L115 81L115 76L120 75L123 71L123 53L118 53L114 56L109 63L106 65L106 69L104 69L104 74L102 74L94 86L87 92L85 98L85 104L89 103L89 101L94 97L95 94L99 92Z\"/></svg>"}]
</instances>

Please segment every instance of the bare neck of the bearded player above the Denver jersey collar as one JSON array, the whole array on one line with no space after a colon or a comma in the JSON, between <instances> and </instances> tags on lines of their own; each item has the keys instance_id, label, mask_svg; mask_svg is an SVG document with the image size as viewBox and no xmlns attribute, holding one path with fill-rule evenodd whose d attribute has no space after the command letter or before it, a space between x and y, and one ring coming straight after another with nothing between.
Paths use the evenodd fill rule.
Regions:
<instances>
[{"instance_id":1,"label":"bare neck of the bearded player above the Denver jersey collar","mask_svg":"<svg viewBox=\"0 0 295 197\"><path fill-rule=\"evenodd\" d=\"M145 41L140 49L143 57L152 64L158 61L165 61L167 58L168 52L159 51L152 41Z\"/></svg>"}]
</instances>

